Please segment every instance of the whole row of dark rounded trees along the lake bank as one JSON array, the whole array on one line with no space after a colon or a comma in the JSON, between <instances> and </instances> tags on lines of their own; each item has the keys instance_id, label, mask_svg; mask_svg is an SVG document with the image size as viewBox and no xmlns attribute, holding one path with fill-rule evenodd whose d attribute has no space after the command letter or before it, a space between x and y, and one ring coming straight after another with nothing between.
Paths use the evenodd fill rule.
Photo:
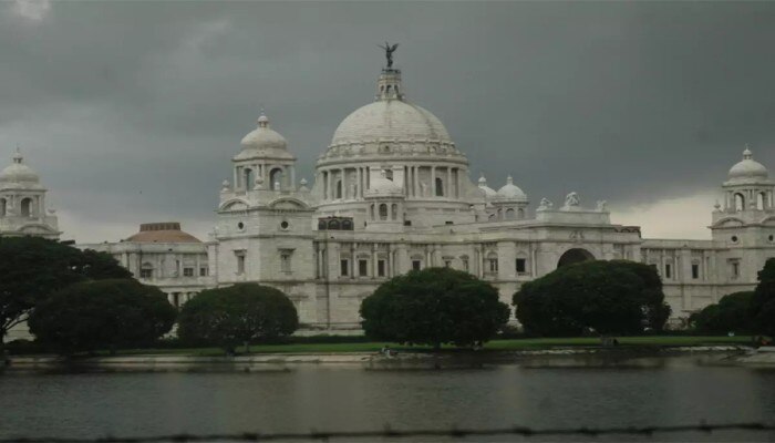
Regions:
<instances>
[{"instance_id":1,"label":"whole row of dark rounded trees along the lake bank","mask_svg":"<svg viewBox=\"0 0 775 443\"><path fill-rule=\"evenodd\" d=\"M529 337L660 333L670 317L662 281L651 266L626 260L560 267L526 282L512 306L497 289L451 268L411 271L381 285L362 303L365 338L299 338L298 312L280 290L258 284L207 289L178 312L111 256L35 237L0 237L0 338L28 321L37 346L61 354L147 347L384 340L480 347L507 326L512 307ZM773 336L775 259L755 291L724 297L690 319L698 332ZM177 339L169 337L177 324ZM318 341L320 342L320 341Z\"/></svg>"}]
</instances>

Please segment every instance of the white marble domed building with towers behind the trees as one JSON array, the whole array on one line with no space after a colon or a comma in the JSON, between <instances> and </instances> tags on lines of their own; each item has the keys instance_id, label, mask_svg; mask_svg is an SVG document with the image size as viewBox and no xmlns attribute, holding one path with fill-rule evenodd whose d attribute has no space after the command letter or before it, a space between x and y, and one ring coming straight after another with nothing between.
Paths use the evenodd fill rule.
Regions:
<instances>
[{"instance_id":1,"label":"white marble domed building with towers behind the trees","mask_svg":"<svg viewBox=\"0 0 775 443\"><path fill-rule=\"evenodd\" d=\"M657 267L676 320L752 289L775 257L775 184L747 148L722 185L712 239L644 239L572 189L565 202L530 205L512 177L498 190L472 182L466 155L406 99L395 69L337 127L311 185L297 182L294 163L261 115L232 158L207 241L149 224L117 244L80 246L113 254L175 305L203 288L258 281L288 293L308 328L328 330L356 329L361 300L381 282L431 266L486 279L510 303L521 284L558 266L638 260Z\"/></svg>"}]
</instances>

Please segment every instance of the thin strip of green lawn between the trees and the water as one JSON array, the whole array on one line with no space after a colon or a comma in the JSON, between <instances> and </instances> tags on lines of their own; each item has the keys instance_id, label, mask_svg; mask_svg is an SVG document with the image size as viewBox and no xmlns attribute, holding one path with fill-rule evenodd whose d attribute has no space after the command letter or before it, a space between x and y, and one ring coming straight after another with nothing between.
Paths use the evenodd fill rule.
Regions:
<instances>
[{"instance_id":1,"label":"thin strip of green lawn between the trees and the water","mask_svg":"<svg viewBox=\"0 0 775 443\"><path fill-rule=\"evenodd\" d=\"M711 344L747 344L751 337L686 337L686 336L657 336L657 337L620 337L621 346L642 347L678 347L678 346L711 346ZM250 353L331 353L331 352L379 352L385 342L355 342L355 343L290 343L290 344L255 344L250 347ZM430 351L428 347L406 347L397 343L388 343L401 352ZM551 339L510 339L494 340L485 344L486 350L493 351L519 351L538 350L547 348L590 347L599 346L598 338L551 338ZM454 349L444 347L444 349ZM242 352L242 348L238 348ZM223 356L218 348L184 348L184 349L136 349L120 351L120 354L167 354L167 356Z\"/></svg>"}]
</instances>

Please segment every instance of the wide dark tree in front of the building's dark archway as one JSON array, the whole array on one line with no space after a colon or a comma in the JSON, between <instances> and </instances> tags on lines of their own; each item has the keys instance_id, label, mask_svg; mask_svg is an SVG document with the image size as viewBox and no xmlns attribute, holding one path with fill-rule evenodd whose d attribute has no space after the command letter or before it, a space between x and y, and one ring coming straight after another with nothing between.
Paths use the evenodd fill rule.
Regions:
<instances>
[{"instance_id":1,"label":"wide dark tree in front of the building's dark archway","mask_svg":"<svg viewBox=\"0 0 775 443\"><path fill-rule=\"evenodd\" d=\"M661 330L670 317L657 270L626 260L560 267L523 285L514 305L534 336L642 333Z\"/></svg>"}]
</instances>

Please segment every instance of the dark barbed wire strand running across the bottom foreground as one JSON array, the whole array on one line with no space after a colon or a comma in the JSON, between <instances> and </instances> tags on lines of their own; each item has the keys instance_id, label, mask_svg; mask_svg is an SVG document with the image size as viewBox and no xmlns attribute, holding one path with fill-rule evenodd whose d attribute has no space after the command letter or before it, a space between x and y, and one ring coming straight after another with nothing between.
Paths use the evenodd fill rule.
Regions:
<instances>
[{"instance_id":1,"label":"dark barbed wire strand running across the bottom foreground","mask_svg":"<svg viewBox=\"0 0 775 443\"><path fill-rule=\"evenodd\" d=\"M169 434L156 436L104 436L95 439L78 437L0 437L0 443L168 443L168 442L267 442L267 441L299 441L299 440L347 440L347 439L406 439L406 437L442 437L463 439L467 436L600 436L600 435L642 435L651 436L657 433L676 432L716 432L716 431L775 431L775 424L769 423L726 423L726 424L679 424L670 426L627 426L627 427L566 427L566 429L531 429L526 426L494 427L494 429L428 429L428 430L393 430L390 426L380 431L340 431L340 432L280 432L259 433L244 432L235 434Z\"/></svg>"}]
</instances>

